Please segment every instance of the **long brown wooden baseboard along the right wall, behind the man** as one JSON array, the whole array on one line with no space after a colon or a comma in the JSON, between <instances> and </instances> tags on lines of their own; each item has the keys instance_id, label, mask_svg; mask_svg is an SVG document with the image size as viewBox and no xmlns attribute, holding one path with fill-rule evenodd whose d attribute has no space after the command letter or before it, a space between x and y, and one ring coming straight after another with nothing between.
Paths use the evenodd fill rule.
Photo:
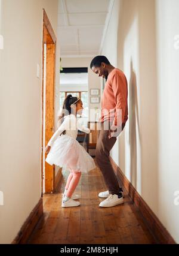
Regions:
<instances>
[{"instance_id":1,"label":"long brown wooden baseboard along the right wall, behind the man","mask_svg":"<svg viewBox=\"0 0 179 256\"><path fill-rule=\"evenodd\" d=\"M128 192L129 197L131 197L135 206L137 206L141 215L146 222L147 227L152 232L153 236L156 238L158 243L161 244L175 244L175 240L172 238L171 234L166 230L161 221L159 221L158 217L153 213L147 203L143 200L140 194L138 194L137 190L134 186L129 182L126 178L125 174L118 167L118 165L113 161L110 157L110 162L112 163L113 169L115 170L116 176L119 181L122 183L124 189Z\"/></svg>"}]
</instances>

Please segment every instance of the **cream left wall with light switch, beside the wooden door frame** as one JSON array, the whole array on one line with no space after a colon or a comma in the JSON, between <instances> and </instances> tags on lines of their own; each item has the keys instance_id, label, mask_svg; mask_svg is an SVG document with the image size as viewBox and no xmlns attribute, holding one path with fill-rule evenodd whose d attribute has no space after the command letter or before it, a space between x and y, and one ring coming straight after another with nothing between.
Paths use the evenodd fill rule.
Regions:
<instances>
[{"instance_id":1,"label":"cream left wall with light switch, beside the wooden door frame","mask_svg":"<svg viewBox=\"0 0 179 256\"><path fill-rule=\"evenodd\" d=\"M42 79L36 77L36 67L42 69L42 8L56 32L57 0L1 4L0 243L11 243L41 198Z\"/></svg>"}]
</instances>

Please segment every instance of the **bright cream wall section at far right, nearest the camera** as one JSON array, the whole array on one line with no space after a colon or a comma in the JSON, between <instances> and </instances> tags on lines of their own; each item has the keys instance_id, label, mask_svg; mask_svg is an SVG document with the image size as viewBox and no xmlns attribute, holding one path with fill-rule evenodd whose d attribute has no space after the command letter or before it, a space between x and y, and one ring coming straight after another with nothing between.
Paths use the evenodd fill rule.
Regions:
<instances>
[{"instance_id":1,"label":"bright cream wall section at far right, nearest the camera","mask_svg":"<svg viewBox=\"0 0 179 256\"><path fill-rule=\"evenodd\" d=\"M179 1L156 1L158 68L158 204L159 216L179 243ZM178 37L179 38L179 37ZM175 45L175 43L177 43Z\"/></svg>"}]
</instances>

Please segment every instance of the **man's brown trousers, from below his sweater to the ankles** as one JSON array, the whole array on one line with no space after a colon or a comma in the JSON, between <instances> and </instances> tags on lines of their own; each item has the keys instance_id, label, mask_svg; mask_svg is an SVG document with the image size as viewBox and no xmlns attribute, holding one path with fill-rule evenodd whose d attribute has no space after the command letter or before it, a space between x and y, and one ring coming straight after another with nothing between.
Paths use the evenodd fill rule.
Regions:
<instances>
[{"instance_id":1,"label":"man's brown trousers, from below his sweater to the ankles","mask_svg":"<svg viewBox=\"0 0 179 256\"><path fill-rule=\"evenodd\" d=\"M105 125L102 123L97 141L95 158L101 172L103 173L109 194L119 194L121 188L109 159L110 150L116 142L116 137L109 138L109 130L105 130L104 127Z\"/></svg>"}]
</instances>

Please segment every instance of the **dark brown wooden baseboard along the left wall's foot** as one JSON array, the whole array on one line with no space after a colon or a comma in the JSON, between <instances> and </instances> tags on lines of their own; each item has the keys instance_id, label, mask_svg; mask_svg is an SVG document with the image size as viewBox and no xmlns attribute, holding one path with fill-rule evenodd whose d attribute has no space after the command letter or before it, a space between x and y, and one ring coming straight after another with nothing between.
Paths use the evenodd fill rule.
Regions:
<instances>
[{"instance_id":1,"label":"dark brown wooden baseboard along the left wall's foot","mask_svg":"<svg viewBox=\"0 0 179 256\"><path fill-rule=\"evenodd\" d=\"M18 232L16 238L13 240L13 244L18 243L26 243L29 239L32 231L40 221L43 216L43 201L42 198L39 200L38 204L34 207L32 212L30 213L29 217L24 222L23 226L21 227L20 231Z\"/></svg>"}]
</instances>

